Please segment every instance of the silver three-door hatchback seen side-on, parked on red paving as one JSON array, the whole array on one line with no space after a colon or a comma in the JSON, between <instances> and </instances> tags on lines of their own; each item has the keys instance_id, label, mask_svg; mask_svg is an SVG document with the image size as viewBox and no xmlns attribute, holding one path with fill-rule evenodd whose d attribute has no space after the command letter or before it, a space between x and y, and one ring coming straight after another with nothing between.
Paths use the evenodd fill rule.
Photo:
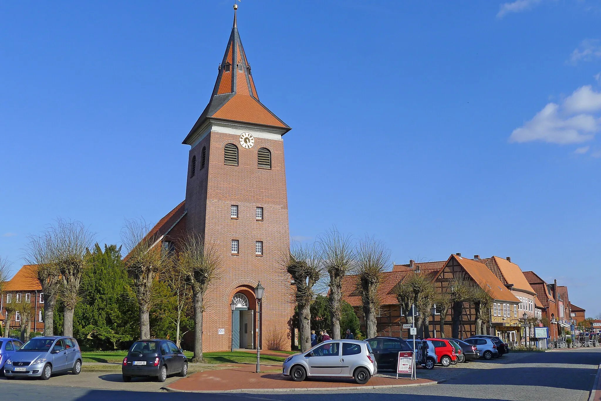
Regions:
<instances>
[{"instance_id":1,"label":"silver three-door hatchback seen side-on, parked on red paving","mask_svg":"<svg viewBox=\"0 0 601 401\"><path fill-rule=\"evenodd\" d=\"M328 340L307 352L285 359L282 374L300 382L307 377L355 378L365 384L377 373L376 358L367 341Z\"/></svg>"}]
</instances>

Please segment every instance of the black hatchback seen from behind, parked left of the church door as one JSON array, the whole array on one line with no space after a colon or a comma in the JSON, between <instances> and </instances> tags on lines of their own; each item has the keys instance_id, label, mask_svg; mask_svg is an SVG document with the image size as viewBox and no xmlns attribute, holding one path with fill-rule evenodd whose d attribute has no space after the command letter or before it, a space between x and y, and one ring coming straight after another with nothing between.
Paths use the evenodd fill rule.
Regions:
<instances>
[{"instance_id":1,"label":"black hatchback seen from behind, parked left of the church door","mask_svg":"<svg viewBox=\"0 0 601 401\"><path fill-rule=\"evenodd\" d=\"M168 375L188 375L188 359L182 349L169 340L140 340L129 347L123 358L123 381L135 376L150 376L164 382Z\"/></svg>"}]
</instances>

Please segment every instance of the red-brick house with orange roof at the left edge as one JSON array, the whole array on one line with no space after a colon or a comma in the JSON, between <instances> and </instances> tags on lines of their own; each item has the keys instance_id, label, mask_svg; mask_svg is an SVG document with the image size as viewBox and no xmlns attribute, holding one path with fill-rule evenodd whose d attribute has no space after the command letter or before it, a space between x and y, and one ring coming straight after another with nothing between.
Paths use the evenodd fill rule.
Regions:
<instances>
[{"instance_id":1,"label":"red-brick house with orange roof at the left edge","mask_svg":"<svg viewBox=\"0 0 601 401\"><path fill-rule=\"evenodd\" d=\"M4 293L0 300L0 313L2 320L6 317L6 304L11 301L25 301L31 304L34 311L31 321L31 331L44 331L44 293L41 292L40 282L37 280L35 265L25 265L5 283ZM21 316L14 313L10 319L11 328L20 328ZM7 322L4 322L6 325Z\"/></svg>"}]
</instances>

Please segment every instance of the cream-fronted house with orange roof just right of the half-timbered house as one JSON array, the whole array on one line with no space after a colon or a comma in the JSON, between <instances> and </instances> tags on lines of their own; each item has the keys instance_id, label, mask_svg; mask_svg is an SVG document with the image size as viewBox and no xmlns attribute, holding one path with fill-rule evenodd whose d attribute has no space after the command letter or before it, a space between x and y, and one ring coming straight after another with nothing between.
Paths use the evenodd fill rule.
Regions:
<instances>
[{"instance_id":1,"label":"cream-fronted house with orange roof just right of the half-timbered house","mask_svg":"<svg viewBox=\"0 0 601 401\"><path fill-rule=\"evenodd\" d=\"M517 317L521 319L519 342L525 344L526 341L530 341L529 337L534 335L534 324L537 319L536 292L524 277L520 267L512 263L510 257L503 259L492 256L481 259L480 256L474 255L474 260L486 265L496 278L501 280L501 283L519 299L520 303L517 304ZM526 314L526 320L523 319L523 314ZM505 326L504 329L508 331L507 335L503 336L504 340L508 343L516 343L517 338L513 337L514 327Z\"/></svg>"}]
</instances>

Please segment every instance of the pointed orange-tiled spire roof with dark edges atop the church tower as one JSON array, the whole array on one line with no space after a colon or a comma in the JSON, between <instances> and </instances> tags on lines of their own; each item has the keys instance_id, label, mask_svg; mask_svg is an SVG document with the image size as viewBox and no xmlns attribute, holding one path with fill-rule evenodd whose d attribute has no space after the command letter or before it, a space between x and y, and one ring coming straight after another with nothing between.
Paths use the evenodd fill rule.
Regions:
<instances>
[{"instance_id":1,"label":"pointed orange-tiled spire roof with dark edges atop the church tower","mask_svg":"<svg viewBox=\"0 0 601 401\"><path fill-rule=\"evenodd\" d=\"M209 104L186 136L189 140L207 118L239 121L290 130L290 127L260 102L251 66L246 58L237 27L237 5L234 4L234 23ZM283 135L283 134L282 134Z\"/></svg>"}]
</instances>

